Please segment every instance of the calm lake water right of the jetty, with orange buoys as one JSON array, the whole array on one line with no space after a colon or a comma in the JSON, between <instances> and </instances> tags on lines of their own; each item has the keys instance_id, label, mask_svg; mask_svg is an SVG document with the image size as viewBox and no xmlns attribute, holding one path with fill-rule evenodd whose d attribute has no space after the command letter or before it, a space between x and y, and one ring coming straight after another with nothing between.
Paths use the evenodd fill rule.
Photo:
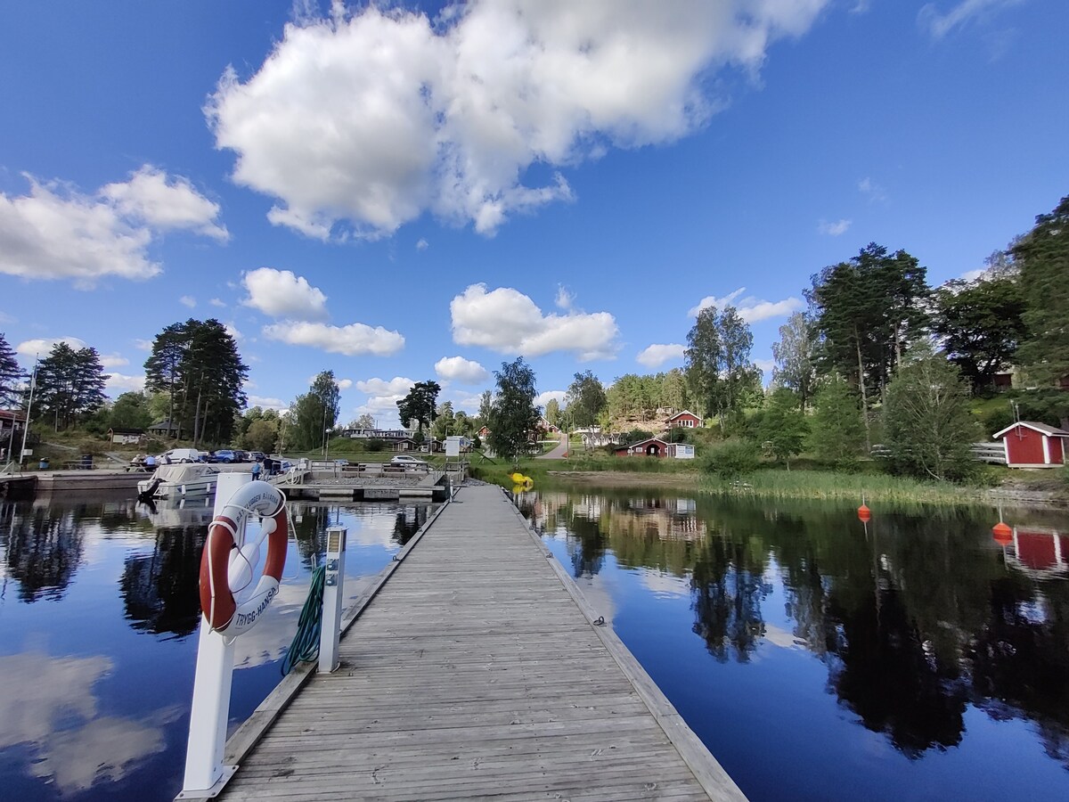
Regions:
<instances>
[{"instance_id":1,"label":"calm lake water right of the jetty, with orange buoys","mask_svg":"<svg viewBox=\"0 0 1069 802\"><path fill-rule=\"evenodd\" d=\"M1069 799L1065 512L518 503L752 800Z\"/></svg>"}]
</instances>

